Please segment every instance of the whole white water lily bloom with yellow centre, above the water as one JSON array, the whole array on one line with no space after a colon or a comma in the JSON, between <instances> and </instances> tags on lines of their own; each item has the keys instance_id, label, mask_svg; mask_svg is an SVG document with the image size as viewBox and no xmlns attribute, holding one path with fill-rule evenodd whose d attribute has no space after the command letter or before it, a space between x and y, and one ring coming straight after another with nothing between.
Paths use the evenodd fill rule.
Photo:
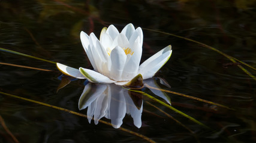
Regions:
<instances>
[{"instance_id":1,"label":"whole white water lily bloom with yellow centre, above the water","mask_svg":"<svg viewBox=\"0 0 256 143\"><path fill-rule=\"evenodd\" d=\"M104 27L100 40L94 33L88 36L85 32L80 33L80 39L94 70L83 67L78 70L60 63L57 67L64 74L94 83L124 85L138 74L148 79L168 61L172 52L169 45L140 65L143 33L132 24L125 26L121 33L113 25Z\"/></svg>"}]
</instances>

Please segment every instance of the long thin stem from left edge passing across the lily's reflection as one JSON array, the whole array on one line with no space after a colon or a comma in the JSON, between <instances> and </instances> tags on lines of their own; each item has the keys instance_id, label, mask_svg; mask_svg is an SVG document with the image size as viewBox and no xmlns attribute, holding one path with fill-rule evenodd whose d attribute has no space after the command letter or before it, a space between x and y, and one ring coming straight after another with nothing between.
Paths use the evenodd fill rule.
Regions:
<instances>
[{"instance_id":1,"label":"long thin stem from left edge passing across the lily's reflection","mask_svg":"<svg viewBox=\"0 0 256 143\"><path fill-rule=\"evenodd\" d=\"M19 97L17 95L13 95L13 94L7 94L5 92L1 92L0 91L0 94L2 95L7 95L8 97L13 97L13 98L17 98L19 100L24 100L24 101L28 101L28 102L33 102L33 103L37 103L37 104L40 104L40 105L44 105L46 107L50 107L50 108L55 108L57 110L61 110L61 111L65 111L67 113L71 113L71 114L75 114L77 116L81 116L81 117L85 117L87 118L88 116L86 116L85 114L82 114L82 113L78 113L76 111L72 111L72 110L68 110L66 108L61 108L61 107L58 107L58 106L55 106L55 105L50 105L50 104L47 104L47 103L44 103L44 102L40 102L40 101L35 101L35 100L30 100L28 98L24 98L24 97ZM99 120L98 122L100 123L104 123L105 125L109 125L109 126L112 126L112 123L109 123L109 122L106 122L106 121L103 121L103 120ZM148 138L147 136L144 136L144 135L141 135L140 133L137 133L137 132L133 132L132 130L128 130L128 129L125 129L125 128L118 128L120 130L123 130L124 132L127 132L127 133L131 133L132 135L135 135L135 136L138 136L148 142L152 142L152 143L155 143L155 141L153 141L152 139Z\"/></svg>"}]
</instances>

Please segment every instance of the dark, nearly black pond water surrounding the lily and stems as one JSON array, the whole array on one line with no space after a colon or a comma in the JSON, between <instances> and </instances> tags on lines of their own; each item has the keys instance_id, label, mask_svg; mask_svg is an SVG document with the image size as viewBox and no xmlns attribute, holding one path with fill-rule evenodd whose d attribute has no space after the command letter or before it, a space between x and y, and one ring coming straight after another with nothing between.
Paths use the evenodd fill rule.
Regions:
<instances>
[{"instance_id":1,"label":"dark, nearly black pond water surrounding the lily and stems","mask_svg":"<svg viewBox=\"0 0 256 143\"><path fill-rule=\"evenodd\" d=\"M134 26L194 39L256 67L255 6L255 1L242 0L0 1L0 47L76 68L91 68L80 43L80 31L94 32L99 37L104 26L115 24L121 30L126 24L133 23ZM158 78L153 79L160 88L234 110L167 93L174 108L211 129L147 97L143 98L141 128L134 126L129 115L125 116L121 127L155 142L255 142L255 80L218 52L146 29L143 29L141 61L167 45L173 47L170 60L156 74L171 88L162 85ZM61 73L55 64L8 52L1 51L0 54L1 63L52 70L1 64L1 92L87 114L87 109L80 111L78 107L85 80L74 80L56 92ZM255 76L255 70L243 67ZM143 90L161 99L156 92L148 88ZM135 101L141 105L141 98ZM150 104L161 108L194 133ZM112 126L95 125L94 121L90 124L85 117L3 94L0 95L0 115L19 142L147 142ZM110 122L105 117L102 120ZM14 142L2 123L0 142Z\"/></svg>"}]
</instances>

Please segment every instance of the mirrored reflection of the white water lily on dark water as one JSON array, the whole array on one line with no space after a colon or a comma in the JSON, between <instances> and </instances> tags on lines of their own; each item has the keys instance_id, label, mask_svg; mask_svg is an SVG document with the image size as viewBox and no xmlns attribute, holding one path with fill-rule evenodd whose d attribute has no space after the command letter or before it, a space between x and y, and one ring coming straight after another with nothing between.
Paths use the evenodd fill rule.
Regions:
<instances>
[{"instance_id":1,"label":"mirrored reflection of the white water lily on dark water","mask_svg":"<svg viewBox=\"0 0 256 143\"><path fill-rule=\"evenodd\" d=\"M144 80L144 83L157 87L154 79ZM170 104L170 99L163 92L158 92L155 89L150 90ZM91 123L92 117L94 117L95 125L102 117L106 117L111 120L114 128L119 128L123 123L125 114L129 114L134 125L137 128L141 127L142 95L132 94L132 92L114 83L88 83L79 99L79 110L87 107L89 123Z\"/></svg>"}]
</instances>

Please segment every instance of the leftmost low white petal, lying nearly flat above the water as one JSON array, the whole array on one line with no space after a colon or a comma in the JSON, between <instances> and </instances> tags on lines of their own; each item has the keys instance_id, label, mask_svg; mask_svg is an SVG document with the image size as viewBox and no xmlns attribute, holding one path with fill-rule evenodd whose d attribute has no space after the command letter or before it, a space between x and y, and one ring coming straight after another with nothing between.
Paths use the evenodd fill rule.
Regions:
<instances>
[{"instance_id":1,"label":"leftmost low white petal, lying nearly flat above the water","mask_svg":"<svg viewBox=\"0 0 256 143\"><path fill-rule=\"evenodd\" d=\"M76 77L77 79L86 79L86 77L83 76L78 69L74 69L73 67L68 67L60 63L56 63L56 66L62 73L68 76Z\"/></svg>"}]
</instances>

